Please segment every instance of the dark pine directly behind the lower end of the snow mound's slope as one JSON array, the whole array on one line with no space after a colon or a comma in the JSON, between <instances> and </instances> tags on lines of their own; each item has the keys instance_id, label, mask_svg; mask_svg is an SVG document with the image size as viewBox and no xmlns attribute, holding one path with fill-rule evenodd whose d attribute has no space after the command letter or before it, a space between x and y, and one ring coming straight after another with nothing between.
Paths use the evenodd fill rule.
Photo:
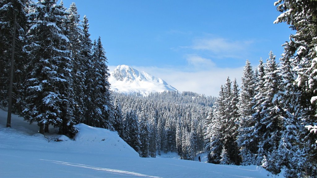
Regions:
<instances>
[{"instance_id":1,"label":"dark pine directly behind the lower end of the snow mound's slope","mask_svg":"<svg viewBox=\"0 0 317 178\"><path fill-rule=\"evenodd\" d=\"M131 110L126 113L124 118L124 135L126 143L128 143L136 152L141 155L140 126L138 120L139 119L135 111Z\"/></svg>"}]
</instances>

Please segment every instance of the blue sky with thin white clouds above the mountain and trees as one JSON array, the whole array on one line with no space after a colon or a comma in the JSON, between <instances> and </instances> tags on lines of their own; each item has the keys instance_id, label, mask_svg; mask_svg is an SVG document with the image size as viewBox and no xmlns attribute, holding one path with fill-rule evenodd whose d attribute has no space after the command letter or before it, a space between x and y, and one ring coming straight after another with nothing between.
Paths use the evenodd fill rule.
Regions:
<instances>
[{"instance_id":1,"label":"blue sky with thin white clouds above the mountain and trees","mask_svg":"<svg viewBox=\"0 0 317 178\"><path fill-rule=\"evenodd\" d=\"M241 81L245 61L258 65L295 33L273 24L269 0L63 0L101 36L109 69L120 64L164 79L179 91L217 96L227 76Z\"/></svg>"}]
</instances>

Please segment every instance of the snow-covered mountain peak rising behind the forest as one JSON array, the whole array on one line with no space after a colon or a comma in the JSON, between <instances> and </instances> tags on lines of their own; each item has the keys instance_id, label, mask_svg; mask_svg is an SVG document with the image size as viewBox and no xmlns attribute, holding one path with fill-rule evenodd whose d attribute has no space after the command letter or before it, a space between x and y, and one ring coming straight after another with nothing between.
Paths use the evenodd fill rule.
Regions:
<instances>
[{"instance_id":1,"label":"snow-covered mountain peak rising behind the forest","mask_svg":"<svg viewBox=\"0 0 317 178\"><path fill-rule=\"evenodd\" d=\"M146 96L151 92L177 91L164 80L126 65L117 66L111 72L109 82L114 92L127 94L140 93Z\"/></svg>"}]
</instances>

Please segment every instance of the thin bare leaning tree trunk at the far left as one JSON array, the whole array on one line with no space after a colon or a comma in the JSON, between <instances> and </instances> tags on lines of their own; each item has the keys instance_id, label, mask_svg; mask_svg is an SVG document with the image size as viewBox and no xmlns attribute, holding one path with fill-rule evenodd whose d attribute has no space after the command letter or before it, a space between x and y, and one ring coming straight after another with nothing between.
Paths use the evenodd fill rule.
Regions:
<instances>
[{"instance_id":1,"label":"thin bare leaning tree trunk at the far left","mask_svg":"<svg viewBox=\"0 0 317 178\"><path fill-rule=\"evenodd\" d=\"M12 40L12 54L11 54L11 67L10 67L9 106L8 106L7 127L11 127L12 88L13 88L15 45L16 45L16 12L14 13L14 25L13 25L13 40Z\"/></svg>"}]
</instances>

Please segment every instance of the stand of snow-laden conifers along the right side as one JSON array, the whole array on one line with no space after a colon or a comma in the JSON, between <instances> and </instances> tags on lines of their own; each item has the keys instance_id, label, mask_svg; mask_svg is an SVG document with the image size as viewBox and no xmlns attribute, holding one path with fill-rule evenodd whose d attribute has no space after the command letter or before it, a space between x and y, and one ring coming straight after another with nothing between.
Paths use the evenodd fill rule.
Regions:
<instances>
[{"instance_id":1,"label":"stand of snow-laden conifers along the right side","mask_svg":"<svg viewBox=\"0 0 317 178\"><path fill-rule=\"evenodd\" d=\"M317 177L317 2L279 0L296 31L279 65L270 52L256 71L247 61L240 91L228 78L206 119L208 162L262 165L286 177Z\"/></svg>"}]
</instances>

